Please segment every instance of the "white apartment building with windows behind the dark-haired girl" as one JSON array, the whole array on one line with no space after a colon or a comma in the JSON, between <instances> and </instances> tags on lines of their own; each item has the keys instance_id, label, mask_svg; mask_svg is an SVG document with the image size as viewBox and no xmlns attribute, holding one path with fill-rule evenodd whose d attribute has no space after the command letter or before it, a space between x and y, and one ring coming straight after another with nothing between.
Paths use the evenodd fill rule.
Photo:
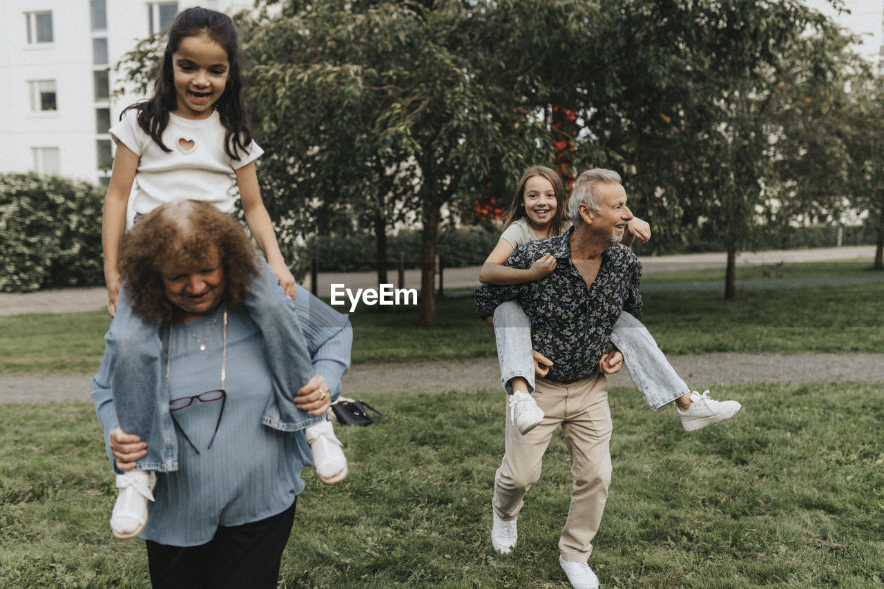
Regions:
<instances>
[{"instance_id":1,"label":"white apartment building with windows behind the dark-haired girl","mask_svg":"<svg viewBox=\"0 0 884 589\"><path fill-rule=\"evenodd\" d=\"M0 0L0 172L106 185L108 129L141 96L112 97L114 65L179 10L241 10L249 0Z\"/></svg>"}]
</instances>

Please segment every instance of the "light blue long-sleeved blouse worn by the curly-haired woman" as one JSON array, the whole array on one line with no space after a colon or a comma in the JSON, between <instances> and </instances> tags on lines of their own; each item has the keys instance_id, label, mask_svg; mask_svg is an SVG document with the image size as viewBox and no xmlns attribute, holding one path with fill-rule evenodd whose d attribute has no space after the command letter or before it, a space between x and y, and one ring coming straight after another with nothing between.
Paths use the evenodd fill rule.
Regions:
<instances>
[{"instance_id":1,"label":"light blue long-sleeved blouse worn by the curly-haired woman","mask_svg":"<svg viewBox=\"0 0 884 589\"><path fill-rule=\"evenodd\" d=\"M337 396L350 359L352 330L347 317L300 289L295 298L314 372ZM333 314L330 315L329 313ZM223 318L212 329L215 314L174 325L169 382L171 397L188 397L221 387ZM164 352L168 330L163 330ZM200 342L206 349L200 351ZM164 354L165 356L165 354ZM105 356L103 369L109 362ZM165 364L165 363L164 363ZM106 370L95 377L95 407L105 437L117 426ZM279 432L261 424L272 396L271 375L263 340L245 314L228 312L225 406L221 400L194 400L173 412L199 454L178 435L179 470L157 473L156 502L141 538L171 546L197 546L215 535L219 525L248 524L287 509L301 493L301 469L312 463L303 432ZM102 379L104 375L105 379ZM171 399L170 399L171 401ZM215 425L217 434L209 448ZM110 449L108 449L110 452Z\"/></svg>"}]
</instances>

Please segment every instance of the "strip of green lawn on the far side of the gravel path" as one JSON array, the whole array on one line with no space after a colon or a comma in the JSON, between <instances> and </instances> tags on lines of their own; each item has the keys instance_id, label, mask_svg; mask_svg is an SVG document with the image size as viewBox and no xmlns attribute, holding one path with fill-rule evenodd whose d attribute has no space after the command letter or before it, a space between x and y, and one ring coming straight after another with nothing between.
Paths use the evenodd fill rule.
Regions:
<instances>
[{"instance_id":1,"label":"strip of green lawn on the far side of the gravel path","mask_svg":"<svg viewBox=\"0 0 884 589\"><path fill-rule=\"evenodd\" d=\"M864 261L740 268L739 279L861 275ZM675 281L711 272L667 273ZM759 274L761 272L761 274ZM653 275L659 277L658 275ZM707 352L880 352L884 350L884 282L848 287L650 292L644 323L667 354ZM438 303L438 325L419 325L415 307L360 307L354 363L494 356L491 330L476 317L472 298ZM101 362L104 311L0 317L0 373L92 372Z\"/></svg>"}]
</instances>

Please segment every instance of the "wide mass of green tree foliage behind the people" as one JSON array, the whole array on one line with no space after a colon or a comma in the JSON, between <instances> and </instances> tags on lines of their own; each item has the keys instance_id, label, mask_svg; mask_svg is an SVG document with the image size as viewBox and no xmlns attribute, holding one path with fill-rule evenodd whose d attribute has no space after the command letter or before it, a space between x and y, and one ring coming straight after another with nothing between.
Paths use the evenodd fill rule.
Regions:
<instances>
[{"instance_id":1,"label":"wide mass of green tree foliage behind the people","mask_svg":"<svg viewBox=\"0 0 884 589\"><path fill-rule=\"evenodd\" d=\"M850 38L799 0L287 0L238 22L284 251L359 228L383 265L388 229L416 223L429 286L442 211L506 202L553 158L622 172L661 250L884 218L857 157L879 95L850 99L868 85ZM144 83L156 43L128 58Z\"/></svg>"}]
</instances>

